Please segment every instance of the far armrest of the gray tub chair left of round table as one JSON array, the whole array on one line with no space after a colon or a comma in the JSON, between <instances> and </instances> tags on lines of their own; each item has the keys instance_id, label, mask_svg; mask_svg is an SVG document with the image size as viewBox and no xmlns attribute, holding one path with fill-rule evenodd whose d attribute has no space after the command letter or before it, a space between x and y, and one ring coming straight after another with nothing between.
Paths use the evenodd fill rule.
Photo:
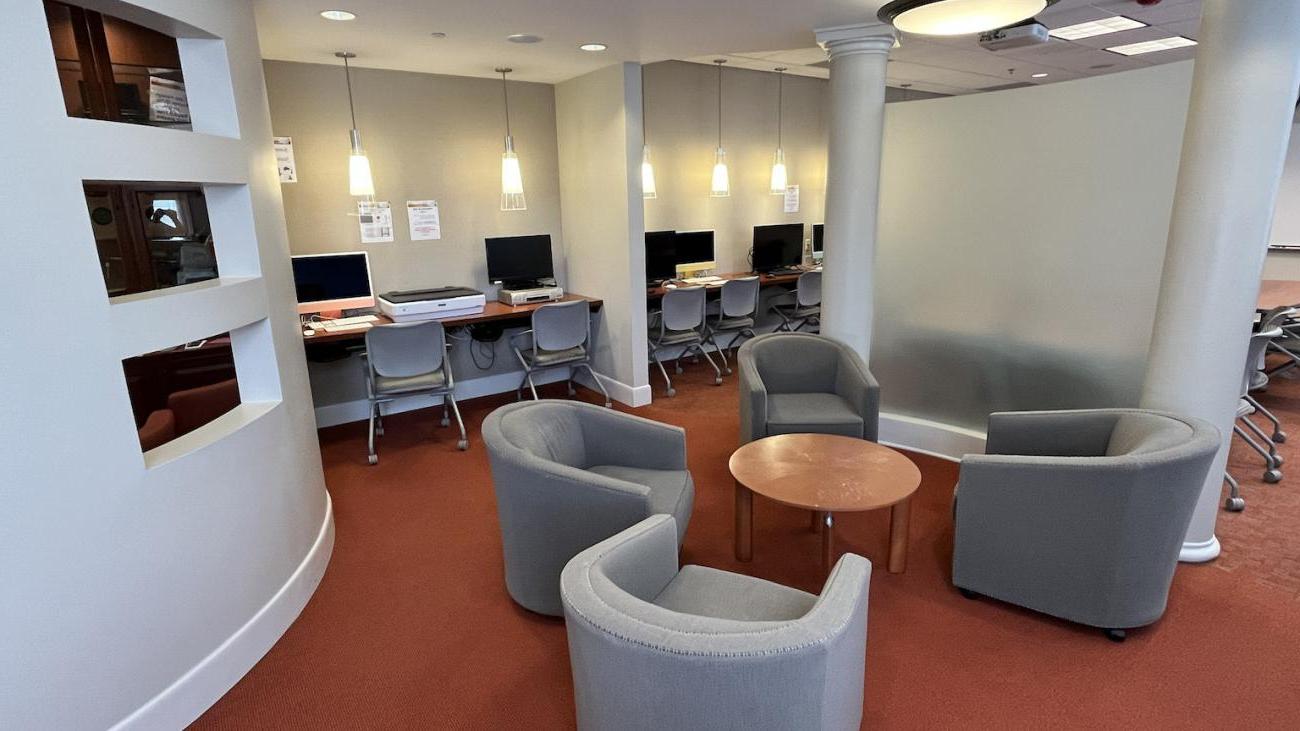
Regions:
<instances>
[{"instance_id":1,"label":"far armrest of the gray tub chair left of round table","mask_svg":"<svg viewBox=\"0 0 1300 731\"><path fill-rule=\"evenodd\" d=\"M584 410L581 416L589 464L686 468L686 431L681 427L608 408Z\"/></svg>"}]
</instances>

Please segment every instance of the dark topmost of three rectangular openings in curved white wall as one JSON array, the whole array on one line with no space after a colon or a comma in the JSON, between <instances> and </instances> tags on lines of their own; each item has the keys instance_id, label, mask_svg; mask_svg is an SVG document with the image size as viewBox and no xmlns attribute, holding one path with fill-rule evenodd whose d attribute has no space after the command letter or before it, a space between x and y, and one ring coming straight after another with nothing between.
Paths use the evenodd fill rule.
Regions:
<instances>
[{"instance_id":1,"label":"dark topmost of three rectangular openings in curved white wall","mask_svg":"<svg viewBox=\"0 0 1300 731\"><path fill-rule=\"evenodd\" d=\"M53 0L46 21L69 117L191 129L176 38Z\"/></svg>"}]
</instances>

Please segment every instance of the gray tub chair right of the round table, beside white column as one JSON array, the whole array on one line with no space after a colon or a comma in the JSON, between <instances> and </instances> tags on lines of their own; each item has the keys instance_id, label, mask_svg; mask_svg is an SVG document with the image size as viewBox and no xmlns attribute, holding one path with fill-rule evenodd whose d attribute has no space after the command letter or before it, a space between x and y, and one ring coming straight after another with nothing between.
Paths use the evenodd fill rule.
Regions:
<instances>
[{"instance_id":1,"label":"gray tub chair right of the round table, beside white column","mask_svg":"<svg viewBox=\"0 0 1300 731\"><path fill-rule=\"evenodd\" d=\"M1158 411L993 414L962 459L953 584L1122 641L1165 613L1218 449L1214 425Z\"/></svg>"}]
</instances>

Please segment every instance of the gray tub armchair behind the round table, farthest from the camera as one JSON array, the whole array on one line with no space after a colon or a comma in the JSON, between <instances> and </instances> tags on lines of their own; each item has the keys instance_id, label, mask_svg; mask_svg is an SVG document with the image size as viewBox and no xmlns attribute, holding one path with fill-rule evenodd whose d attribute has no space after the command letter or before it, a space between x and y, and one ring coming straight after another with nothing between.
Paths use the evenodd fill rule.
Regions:
<instances>
[{"instance_id":1,"label":"gray tub armchair behind the round table, farthest from the camera","mask_svg":"<svg viewBox=\"0 0 1300 731\"><path fill-rule=\"evenodd\" d=\"M774 434L844 434L876 441L880 384L842 342L771 333L740 347L740 441Z\"/></svg>"}]
</instances>

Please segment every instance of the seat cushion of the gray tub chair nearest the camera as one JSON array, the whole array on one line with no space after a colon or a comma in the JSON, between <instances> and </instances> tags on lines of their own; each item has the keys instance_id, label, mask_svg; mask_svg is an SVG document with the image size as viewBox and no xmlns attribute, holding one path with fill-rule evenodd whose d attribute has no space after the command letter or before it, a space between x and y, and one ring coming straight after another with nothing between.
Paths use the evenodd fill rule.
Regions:
<instances>
[{"instance_id":1,"label":"seat cushion of the gray tub chair nearest the camera","mask_svg":"<svg viewBox=\"0 0 1300 731\"><path fill-rule=\"evenodd\" d=\"M731 571L682 566L653 604L697 617L788 622L807 614L816 604L816 597Z\"/></svg>"}]
</instances>

